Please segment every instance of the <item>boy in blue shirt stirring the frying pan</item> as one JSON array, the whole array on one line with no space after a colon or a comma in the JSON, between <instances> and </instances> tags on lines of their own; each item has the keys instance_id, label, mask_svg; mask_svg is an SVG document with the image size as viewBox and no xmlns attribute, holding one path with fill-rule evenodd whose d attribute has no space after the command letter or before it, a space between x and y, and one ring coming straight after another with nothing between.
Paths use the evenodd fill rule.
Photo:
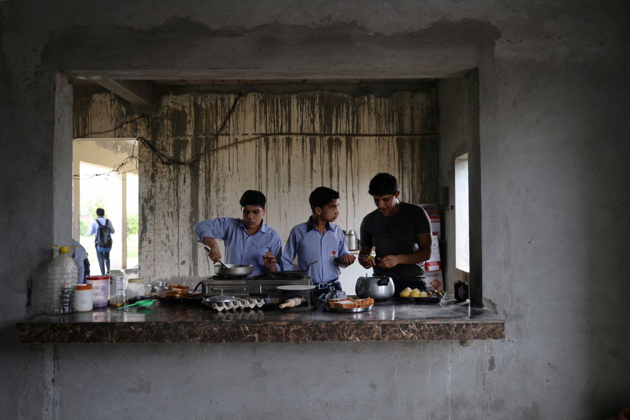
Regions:
<instances>
[{"instance_id":1,"label":"boy in blue shirt stirring the frying pan","mask_svg":"<svg viewBox=\"0 0 630 420\"><path fill-rule=\"evenodd\" d=\"M219 245L214 240L222 239L226 246L226 264L253 265L252 275L280 270L278 261L282 257L280 234L263 221L266 213L266 198L260 191L247 190L241 196L243 219L217 217L203 220L195 225L199 242L210 248L208 256L212 262L221 259Z\"/></svg>"}]
</instances>

